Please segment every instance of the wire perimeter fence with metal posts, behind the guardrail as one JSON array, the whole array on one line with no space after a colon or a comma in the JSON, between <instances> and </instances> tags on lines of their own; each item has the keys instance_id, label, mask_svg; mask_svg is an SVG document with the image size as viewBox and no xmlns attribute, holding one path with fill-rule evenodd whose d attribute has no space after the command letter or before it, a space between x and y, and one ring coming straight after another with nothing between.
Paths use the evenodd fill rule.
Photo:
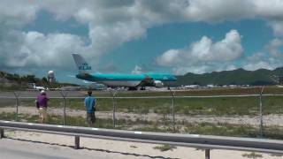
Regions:
<instances>
[{"instance_id":1,"label":"wire perimeter fence with metal posts, behind the guardrail","mask_svg":"<svg viewBox=\"0 0 283 159\"><path fill-rule=\"evenodd\" d=\"M69 93L47 93L50 94L47 122L87 126L85 95ZM0 95L0 119L36 123L34 100L37 94ZM269 137L283 138L279 133L282 132L279 128L283 128L280 124L283 95L264 95L263 89L258 95L184 96L174 91L157 96L132 96L118 91L94 95L96 127L170 133L210 134L211 131L213 134L217 131L216 135L243 133L249 137L264 137L264 133L273 132Z\"/></svg>"}]
</instances>

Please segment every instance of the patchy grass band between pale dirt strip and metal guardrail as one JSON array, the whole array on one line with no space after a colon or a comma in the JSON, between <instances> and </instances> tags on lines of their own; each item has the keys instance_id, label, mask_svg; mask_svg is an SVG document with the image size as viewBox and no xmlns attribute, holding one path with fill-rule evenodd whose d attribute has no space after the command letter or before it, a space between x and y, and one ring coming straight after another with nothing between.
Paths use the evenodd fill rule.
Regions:
<instances>
[{"instance_id":1,"label":"patchy grass band between pale dirt strip and metal guardrail","mask_svg":"<svg viewBox=\"0 0 283 159\"><path fill-rule=\"evenodd\" d=\"M2 113L0 119L14 120L15 114ZM38 116L27 116L19 114L19 121L37 123ZM66 117L66 125L75 126L87 126L86 119L83 117ZM61 125L61 116L50 116L46 122L51 125ZM128 121L117 120L116 129L122 130L135 130L146 132L163 132L172 133L171 123L164 122L147 122L147 121ZM97 119L96 127L99 128L113 128L111 119ZM189 123L177 123L175 133L191 133L191 134L204 134L204 135L220 135L220 136L234 136L234 137L251 137L257 138L259 130L249 125L229 125L229 124L189 124ZM282 127L264 127L264 138L283 140L283 128Z\"/></svg>"}]
</instances>

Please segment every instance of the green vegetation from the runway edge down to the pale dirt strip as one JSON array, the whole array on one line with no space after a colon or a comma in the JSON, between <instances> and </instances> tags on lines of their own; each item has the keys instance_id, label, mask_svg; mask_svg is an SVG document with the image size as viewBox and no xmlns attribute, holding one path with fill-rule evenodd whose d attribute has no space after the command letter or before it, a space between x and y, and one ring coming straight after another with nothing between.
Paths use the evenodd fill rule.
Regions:
<instances>
[{"instance_id":1,"label":"green vegetation from the runway edge down to the pale dirt strip","mask_svg":"<svg viewBox=\"0 0 283 159\"><path fill-rule=\"evenodd\" d=\"M218 95L238 95L238 92L245 94L254 94L258 88L249 89L226 89L216 90L214 93ZM266 87L264 89L266 94L281 94L282 88ZM207 115L207 116L257 116L259 113L259 96L245 96L245 97L195 97L195 98L180 98L180 95L191 95L191 91L178 92L174 99L174 111L179 115ZM195 91L195 95L207 95L210 90ZM142 92L142 93L119 93L120 97L124 96L168 96L168 98L151 98L151 99L115 99L116 110L125 113L148 114L157 113L162 115L172 114L172 97L168 92ZM112 111L113 101L110 93L95 92L96 97L110 97L97 98L96 110L98 111ZM6 100L7 101L7 100ZM268 114L282 114L283 113L283 97L282 96L263 96L264 115ZM10 105L14 105L15 101L11 100ZM6 102L4 106L9 106ZM34 107L34 99L20 99L19 104L22 106ZM2 105L2 102L0 102ZM62 109L64 106L63 99L50 99L51 108ZM83 106L83 96L80 99L66 99L65 105L70 110L85 110Z\"/></svg>"}]
</instances>

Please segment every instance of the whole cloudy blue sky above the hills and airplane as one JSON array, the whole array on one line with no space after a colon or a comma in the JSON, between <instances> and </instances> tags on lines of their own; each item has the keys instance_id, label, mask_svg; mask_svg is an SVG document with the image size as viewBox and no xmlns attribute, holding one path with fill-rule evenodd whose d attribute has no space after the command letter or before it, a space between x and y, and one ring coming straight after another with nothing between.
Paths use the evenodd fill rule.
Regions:
<instances>
[{"instance_id":1,"label":"whole cloudy blue sky above the hills and airplane","mask_svg":"<svg viewBox=\"0 0 283 159\"><path fill-rule=\"evenodd\" d=\"M281 0L1 0L0 71L77 81L94 72L254 71L283 66Z\"/></svg>"}]
</instances>

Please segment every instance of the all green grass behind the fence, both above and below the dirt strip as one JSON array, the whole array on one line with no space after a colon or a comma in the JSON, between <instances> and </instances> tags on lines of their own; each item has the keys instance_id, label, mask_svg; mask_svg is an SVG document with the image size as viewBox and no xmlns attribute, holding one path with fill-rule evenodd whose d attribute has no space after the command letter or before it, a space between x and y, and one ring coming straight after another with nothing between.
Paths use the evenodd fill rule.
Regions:
<instances>
[{"instance_id":1,"label":"all green grass behind the fence, both above and below the dirt strip","mask_svg":"<svg viewBox=\"0 0 283 159\"><path fill-rule=\"evenodd\" d=\"M190 90L178 91L176 96L205 96L205 95L258 95L260 87L234 88L234 89L210 89L210 90ZM283 88L266 87L264 94L273 96L263 96L264 115L283 113ZM111 97L109 92L94 92L97 97ZM136 114L157 113L164 115L162 121L130 121L127 119L117 120L117 129L140 130L150 132L172 132L172 121L165 118L165 115L172 113L172 98L170 92L120 92L118 97L141 97L141 96L168 96L168 98L157 99L115 99L116 111L131 112ZM10 103L10 105L9 105ZM50 99L51 108L63 108L63 99ZM14 106L14 101L0 101L6 106ZM23 107L34 107L34 99L20 99L19 105ZM66 108L69 110L85 110L83 106L83 96L81 99L66 99ZM245 97L194 97L174 99L175 113L178 115L190 116L252 116L259 115L259 96ZM113 101L111 98L98 98L97 111L112 111ZM15 115L11 113L0 114L0 119L14 120ZM20 115L20 121L36 123L37 116ZM51 116L49 124L62 125L62 116ZM83 117L66 117L66 125L87 126ZM96 127L112 128L112 119L97 119ZM231 124L210 124L210 123L176 123L177 133L198 133L225 136L257 137L259 130L250 125L231 125ZM264 127L264 137L270 139L283 140L282 127Z\"/></svg>"}]
</instances>

